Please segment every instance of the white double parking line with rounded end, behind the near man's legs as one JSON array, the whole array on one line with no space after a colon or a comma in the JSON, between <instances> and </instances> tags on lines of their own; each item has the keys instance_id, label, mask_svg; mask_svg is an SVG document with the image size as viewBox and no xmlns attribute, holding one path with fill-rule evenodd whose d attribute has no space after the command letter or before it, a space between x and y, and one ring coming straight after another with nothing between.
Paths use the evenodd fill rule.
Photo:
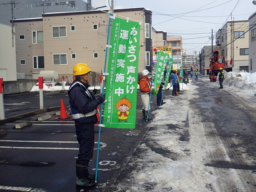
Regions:
<instances>
[{"instance_id":1,"label":"white double parking line with rounded end, behind the near man's legs","mask_svg":"<svg viewBox=\"0 0 256 192\"><path fill-rule=\"evenodd\" d=\"M77 141L25 141L25 140L0 140L0 142L21 142L21 143L78 143ZM98 144L98 142L94 142L94 144ZM107 146L106 143L99 142L102 146L99 148L105 148ZM61 150L79 150L79 148L68 148L68 147L17 147L17 146L0 146L0 148L18 148L18 149L61 149ZM97 150L97 148L93 148Z\"/></svg>"}]
</instances>

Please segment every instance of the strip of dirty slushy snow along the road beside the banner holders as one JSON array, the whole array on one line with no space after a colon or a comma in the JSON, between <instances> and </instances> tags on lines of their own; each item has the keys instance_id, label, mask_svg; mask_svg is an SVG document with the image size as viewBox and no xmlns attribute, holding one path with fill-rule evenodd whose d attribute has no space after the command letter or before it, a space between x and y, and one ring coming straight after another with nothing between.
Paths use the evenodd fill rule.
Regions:
<instances>
[{"instance_id":1,"label":"strip of dirty slushy snow along the road beside the banner holders","mask_svg":"<svg viewBox=\"0 0 256 192\"><path fill-rule=\"evenodd\" d=\"M207 192L216 189L214 169L204 166L207 138L203 126L197 126L200 116L195 114L196 109L189 110L187 105L188 100L197 96L196 88L190 83L183 84L183 90L188 91L179 97L167 96L166 104L151 113L154 119L148 124L150 131L138 146L137 156L131 157L128 163L135 170L119 182L115 192Z\"/></svg>"}]
</instances>

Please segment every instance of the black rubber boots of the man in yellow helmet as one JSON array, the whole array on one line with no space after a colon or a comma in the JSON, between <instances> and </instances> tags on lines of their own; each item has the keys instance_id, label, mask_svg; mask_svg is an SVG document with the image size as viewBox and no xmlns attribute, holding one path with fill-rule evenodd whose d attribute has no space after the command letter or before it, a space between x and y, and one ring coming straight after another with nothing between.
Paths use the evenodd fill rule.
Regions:
<instances>
[{"instance_id":1,"label":"black rubber boots of the man in yellow helmet","mask_svg":"<svg viewBox=\"0 0 256 192\"><path fill-rule=\"evenodd\" d=\"M88 166L84 165L76 165L76 185L79 186L93 186L95 185L95 181L88 180L86 177L88 176ZM95 176L94 176L95 178Z\"/></svg>"}]
</instances>

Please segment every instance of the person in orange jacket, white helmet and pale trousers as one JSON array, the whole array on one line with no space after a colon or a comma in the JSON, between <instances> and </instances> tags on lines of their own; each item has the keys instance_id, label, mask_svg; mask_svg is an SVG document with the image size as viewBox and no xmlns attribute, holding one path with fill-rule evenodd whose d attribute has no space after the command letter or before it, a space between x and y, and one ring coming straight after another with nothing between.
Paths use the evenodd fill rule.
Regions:
<instances>
[{"instance_id":1,"label":"person in orange jacket, white helmet and pale trousers","mask_svg":"<svg viewBox=\"0 0 256 192\"><path fill-rule=\"evenodd\" d=\"M143 103L142 107L142 118L147 120L148 111L150 110L149 105L149 96L150 92L153 90L151 87L150 79L148 78L149 71L143 70L142 71L142 78L139 79L138 84L140 85L140 96ZM148 117L148 121L153 119Z\"/></svg>"}]
</instances>

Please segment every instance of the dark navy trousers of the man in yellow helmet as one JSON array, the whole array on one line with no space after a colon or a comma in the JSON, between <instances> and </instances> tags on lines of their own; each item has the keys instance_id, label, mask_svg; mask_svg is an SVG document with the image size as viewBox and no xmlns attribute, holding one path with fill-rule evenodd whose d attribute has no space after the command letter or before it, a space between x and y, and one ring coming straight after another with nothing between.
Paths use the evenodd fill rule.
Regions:
<instances>
[{"instance_id":1,"label":"dark navy trousers of the man in yellow helmet","mask_svg":"<svg viewBox=\"0 0 256 192\"><path fill-rule=\"evenodd\" d=\"M76 126L76 139L80 145L76 164L88 165L93 158L94 125Z\"/></svg>"}]
</instances>

